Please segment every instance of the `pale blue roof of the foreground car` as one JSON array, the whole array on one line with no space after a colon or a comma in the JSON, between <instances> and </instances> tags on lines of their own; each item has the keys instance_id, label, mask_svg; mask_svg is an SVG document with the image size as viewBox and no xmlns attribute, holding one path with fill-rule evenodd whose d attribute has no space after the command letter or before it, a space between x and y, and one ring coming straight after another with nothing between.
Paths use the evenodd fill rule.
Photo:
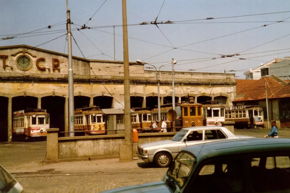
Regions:
<instances>
[{"instance_id":1,"label":"pale blue roof of the foreground car","mask_svg":"<svg viewBox=\"0 0 290 193\"><path fill-rule=\"evenodd\" d=\"M249 138L217 141L188 146L183 149L193 153L197 162L209 157L238 153L290 151L289 138Z\"/></svg>"}]
</instances>

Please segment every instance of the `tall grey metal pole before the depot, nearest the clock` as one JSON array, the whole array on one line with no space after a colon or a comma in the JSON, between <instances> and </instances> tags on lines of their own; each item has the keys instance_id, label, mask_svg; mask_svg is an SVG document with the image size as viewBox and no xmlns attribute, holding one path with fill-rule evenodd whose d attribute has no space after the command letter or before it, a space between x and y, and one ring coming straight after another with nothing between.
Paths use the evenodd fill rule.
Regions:
<instances>
[{"instance_id":1,"label":"tall grey metal pole before the depot, nearest the clock","mask_svg":"<svg viewBox=\"0 0 290 193\"><path fill-rule=\"evenodd\" d=\"M70 31L70 10L68 9L68 0L66 0L66 29L67 29L67 51L68 51L68 92L69 92L69 131L70 137L75 136L75 113L74 113L74 72L72 69L72 51L71 51L71 31Z\"/></svg>"}]
</instances>

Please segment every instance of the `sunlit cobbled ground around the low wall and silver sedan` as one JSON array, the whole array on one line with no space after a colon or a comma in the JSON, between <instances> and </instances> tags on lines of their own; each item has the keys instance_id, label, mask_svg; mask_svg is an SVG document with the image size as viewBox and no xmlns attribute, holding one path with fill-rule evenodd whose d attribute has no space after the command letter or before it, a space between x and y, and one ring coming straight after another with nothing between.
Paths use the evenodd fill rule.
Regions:
<instances>
[{"instance_id":1,"label":"sunlit cobbled ground around the low wall and silver sedan","mask_svg":"<svg viewBox=\"0 0 290 193\"><path fill-rule=\"evenodd\" d=\"M263 137L270 129L239 129L235 135ZM279 137L290 138L289 129ZM23 186L25 193L88 192L160 181L167 168L134 158L132 162L105 159L45 165L46 141L0 143L0 164Z\"/></svg>"}]
</instances>

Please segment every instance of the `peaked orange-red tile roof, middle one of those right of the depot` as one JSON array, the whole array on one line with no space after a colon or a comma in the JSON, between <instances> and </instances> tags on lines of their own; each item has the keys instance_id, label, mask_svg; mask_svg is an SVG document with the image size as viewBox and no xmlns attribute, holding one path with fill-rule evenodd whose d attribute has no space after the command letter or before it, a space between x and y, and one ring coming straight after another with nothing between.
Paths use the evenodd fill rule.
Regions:
<instances>
[{"instance_id":1,"label":"peaked orange-red tile roof, middle one of those right of the depot","mask_svg":"<svg viewBox=\"0 0 290 193\"><path fill-rule=\"evenodd\" d=\"M239 92L236 91L237 98L234 101L266 99L265 81L267 81L267 97L278 92L285 84L279 82L275 77L263 77L248 86L244 86Z\"/></svg>"}]
</instances>

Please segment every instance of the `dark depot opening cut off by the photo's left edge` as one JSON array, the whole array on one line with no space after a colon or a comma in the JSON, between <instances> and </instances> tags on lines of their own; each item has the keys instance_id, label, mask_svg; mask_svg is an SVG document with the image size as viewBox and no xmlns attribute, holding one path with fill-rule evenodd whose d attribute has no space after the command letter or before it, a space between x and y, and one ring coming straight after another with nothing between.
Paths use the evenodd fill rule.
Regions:
<instances>
[{"instance_id":1,"label":"dark depot opening cut off by the photo's left edge","mask_svg":"<svg viewBox=\"0 0 290 193\"><path fill-rule=\"evenodd\" d=\"M4 142L8 141L8 97L0 96L0 104L0 142Z\"/></svg>"}]
</instances>

